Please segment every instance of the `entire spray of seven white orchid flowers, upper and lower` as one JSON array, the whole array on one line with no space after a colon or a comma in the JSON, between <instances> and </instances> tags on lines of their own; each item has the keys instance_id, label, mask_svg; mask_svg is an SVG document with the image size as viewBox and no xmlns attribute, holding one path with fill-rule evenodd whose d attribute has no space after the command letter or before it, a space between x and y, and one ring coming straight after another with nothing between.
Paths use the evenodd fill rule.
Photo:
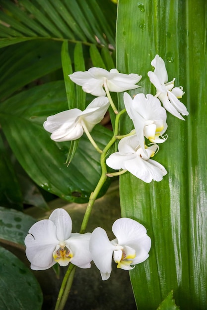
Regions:
<instances>
[{"instance_id":1,"label":"entire spray of seven white orchid flowers, upper and lower","mask_svg":"<svg viewBox=\"0 0 207 310\"><path fill-rule=\"evenodd\" d=\"M155 96L139 93L132 98L126 93L139 87L137 83L141 76L135 73L122 74L117 69L107 71L102 68L90 68L85 72L70 74L69 78L74 83L97 98L83 111L73 108L49 116L44 122L44 128L51 133L51 139L57 142L71 141L85 133L96 150L103 154L90 132L103 119L111 105L118 120L122 113L127 112L134 129L124 136L119 136L118 129L114 133L111 141L114 143L116 139L120 139L118 151L111 154L104 164L121 171L107 173L106 176L129 171L146 183L152 180L161 181L167 171L151 158L157 154L158 144L167 139L166 110L182 120L182 115L188 115L188 111L179 101L184 95L183 88L174 87L175 78L168 82L163 59L156 55L151 65L154 66L154 71L149 71L148 77L156 88ZM125 92L124 110L117 110L110 92ZM107 145L108 149L104 150L109 150L110 143ZM104 151L105 157L107 151ZM125 270L134 268L136 264L148 258L151 239L147 236L145 227L133 219L120 218L114 222L112 231L116 238L112 241L109 241L106 232L100 227L92 234L71 231L71 218L63 209L53 211L48 220L34 224L25 238L26 255L31 262L31 268L48 269L56 262L66 266L70 261L81 268L89 268L93 260L101 272L102 279L107 280L112 270L112 258L118 268Z\"/></svg>"}]
</instances>

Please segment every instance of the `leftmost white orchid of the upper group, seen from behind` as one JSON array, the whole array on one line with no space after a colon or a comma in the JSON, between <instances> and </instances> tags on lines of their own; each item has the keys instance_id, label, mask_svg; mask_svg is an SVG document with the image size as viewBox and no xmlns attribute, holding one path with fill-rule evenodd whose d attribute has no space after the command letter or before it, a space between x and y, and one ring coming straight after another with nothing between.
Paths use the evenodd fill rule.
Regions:
<instances>
[{"instance_id":1,"label":"leftmost white orchid of the upper group, seen from behind","mask_svg":"<svg viewBox=\"0 0 207 310\"><path fill-rule=\"evenodd\" d=\"M76 140L103 119L109 105L107 97L98 97L84 111L74 108L49 116L43 126L52 133L51 139L54 141Z\"/></svg>"}]
</instances>

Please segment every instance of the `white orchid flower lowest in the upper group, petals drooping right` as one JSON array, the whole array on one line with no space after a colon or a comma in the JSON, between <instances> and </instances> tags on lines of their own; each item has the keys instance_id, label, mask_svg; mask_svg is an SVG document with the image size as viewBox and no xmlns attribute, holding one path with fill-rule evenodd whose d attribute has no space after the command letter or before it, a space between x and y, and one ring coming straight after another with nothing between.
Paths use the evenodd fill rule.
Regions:
<instances>
[{"instance_id":1,"label":"white orchid flower lowest in the upper group, petals drooping right","mask_svg":"<svg viewBox=\"0 0 207 310\"><path fill-rule=\"evenodd\" d=\"M120 140L119 152L113 153L106 159L106 164L112 169L124 169L131 172L138 179L149 183L152 180L161 181L167 171L157 161L150 159L158 150L156 144L145 146L142 150L137 135L132 135Z\"/></svg>"}]
</instances>

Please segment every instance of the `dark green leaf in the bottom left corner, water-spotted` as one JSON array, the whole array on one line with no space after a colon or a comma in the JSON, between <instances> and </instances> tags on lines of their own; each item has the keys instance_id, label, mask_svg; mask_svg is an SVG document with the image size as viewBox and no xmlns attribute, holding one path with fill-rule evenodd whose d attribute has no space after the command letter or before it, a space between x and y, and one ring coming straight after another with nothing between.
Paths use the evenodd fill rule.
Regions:
<instances>
[{"instance_id":1,"label":"dark green leaf in the bottom left corner, water-spotted","mask_svg":"<svg viewBox=\"0 0 207 310\"><path fill-rule=\"evenodd\" d=\"M0 248L0 310L41 310L41 288L32 272Z\"/></svg>"}]
</instances>

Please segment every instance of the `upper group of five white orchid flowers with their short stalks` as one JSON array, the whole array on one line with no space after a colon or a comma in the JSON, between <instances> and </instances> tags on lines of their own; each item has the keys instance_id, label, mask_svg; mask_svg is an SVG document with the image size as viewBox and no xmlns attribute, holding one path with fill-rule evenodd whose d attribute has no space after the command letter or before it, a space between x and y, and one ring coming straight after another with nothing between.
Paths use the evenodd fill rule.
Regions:
<instances>
[{"instance_id":1,"label":"upper group of five white orchid flowers with their short stalks","mask_svg":"<svg viewBox=\"0 0 207 310\"><path fill-rule=\"evenodd\" d=\"M188 111L179 101L184 94L183 88L174 87L175 78L167 82L168 74L163 59L156 55L151 65L154 66L154 72L149 71L148 76L156 87L155 96L139 93L132 98L125 92L139 87L137 83L141 75L135 73L123 74L117 69L107 71L94 67L85 72L70 74L69 78L82 86L83 91L98 97L84 111L74 108L49 116L44 122L44 128L51 133L51 139L57 142L76 140L85 132L94 147L100 151L90 132L102 120L110 104L118 114L110 92L125 92L125 108L135 129L121 137L118 152L110 155L106 164L115 170L122 169L120 173L129 171L146 183L161 181L167 171L151 157L159 150L157 144L167 139L167 135L164 135L167 130L166 110L180 119L184 119L181 114L188 115ZM145 139L151 144L147 145ZM113 173L107 175L112 176Z\"/></svg>"}]
</instances>

